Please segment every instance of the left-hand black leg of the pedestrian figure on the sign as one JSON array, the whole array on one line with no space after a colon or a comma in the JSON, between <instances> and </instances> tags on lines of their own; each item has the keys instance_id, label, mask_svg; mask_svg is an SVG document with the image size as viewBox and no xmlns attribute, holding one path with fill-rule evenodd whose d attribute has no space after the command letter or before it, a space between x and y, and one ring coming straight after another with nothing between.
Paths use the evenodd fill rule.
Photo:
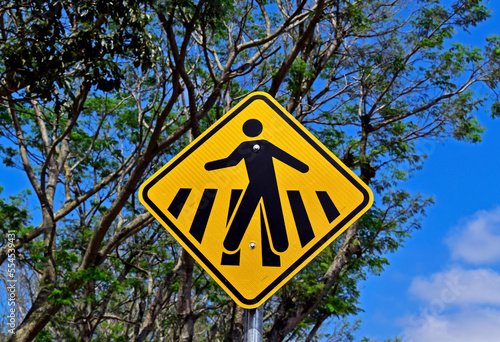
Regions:
<instances>
[{"instance_id":1,"label":"left-hand black leg of the pedestrian figure on the sign","mask_svg":"<svg viewBox=\"0 0 500 342\"><path fill-rule=\"evenodd\" d=\"M236 251L240 247L241 239L248 228L248 224L259 204L260 196L249 186L234 214L233 222L229 226L226 238L224 239L224 248L228 251Z\"/></svg>"}]
</instances>

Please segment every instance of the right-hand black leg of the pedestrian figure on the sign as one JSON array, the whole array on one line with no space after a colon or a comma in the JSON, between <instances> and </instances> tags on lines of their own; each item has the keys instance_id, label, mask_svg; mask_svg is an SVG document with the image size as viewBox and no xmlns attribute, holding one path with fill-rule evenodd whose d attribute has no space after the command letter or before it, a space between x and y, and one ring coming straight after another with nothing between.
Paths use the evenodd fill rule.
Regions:
<instances>
[{"instance_id":1,"label":"right-hand black leg of the pedestrian figure on the sign","mask_svg":"<svg viewBox=\"0 0 500 342\"><path fill-rule=\"evenodd\" d=\"M267 190L263 199L267 223L269 224L269 233L271 235L271 244L277 252L284 252L288 249L288 237L278 188Z\"/></svg>"}]
</instances>

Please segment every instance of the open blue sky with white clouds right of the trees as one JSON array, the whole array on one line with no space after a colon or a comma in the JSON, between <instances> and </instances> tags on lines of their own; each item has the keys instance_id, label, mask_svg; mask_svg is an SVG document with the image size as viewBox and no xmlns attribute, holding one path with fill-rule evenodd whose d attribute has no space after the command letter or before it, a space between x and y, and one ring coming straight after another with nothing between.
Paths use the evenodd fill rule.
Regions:
<instances>
[{"instance_id":1,"label":"open blue sky with white clouds right of the trees","mask_svg":"<svg viewBox=\"0 0 500 342\"><path fill-rule=\"evenodd\" d=\"M500 34L500 2L489 7L492 18L460 40L481 46ZM390 266L362 284L358 340L499 341L500 120L487 108L477 116L486 127L482 143L422 145L424 167L403 186L433 195L435 204L422 229L389 255Z\"/></svg>"}]
</instances>

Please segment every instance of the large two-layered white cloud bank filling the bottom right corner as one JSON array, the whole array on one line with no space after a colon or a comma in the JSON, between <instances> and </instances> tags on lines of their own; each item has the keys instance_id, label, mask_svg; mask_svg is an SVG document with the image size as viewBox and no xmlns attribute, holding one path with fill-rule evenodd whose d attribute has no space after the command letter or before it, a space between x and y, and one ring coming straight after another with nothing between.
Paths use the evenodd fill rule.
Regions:
<instances>
[{"instance_id":1,"label":"large two-layered white cloud bank filling the bottom right corner","mask_svg":"<svg viewBox=\"0 0 500 342\"><path fill-rule=\"evenodd\" d=\"M500 273L455 267L415 278L409 292L423 305L400 320L404 342L500 340Z\"/></svg>"}]
</instances>

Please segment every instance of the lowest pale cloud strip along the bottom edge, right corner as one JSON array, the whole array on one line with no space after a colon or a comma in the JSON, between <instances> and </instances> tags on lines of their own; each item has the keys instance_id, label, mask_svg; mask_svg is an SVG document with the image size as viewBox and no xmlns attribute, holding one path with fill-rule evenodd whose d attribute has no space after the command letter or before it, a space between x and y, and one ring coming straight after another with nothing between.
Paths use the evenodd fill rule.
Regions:
<instances>
[{"instance_id":1,"label":"lowest pale cloud strip along the bottom edge, right corner","mask_svg":"<svg viewBox=\"0 0 500 342\"><path fill-rule=\"evenodd\" d=\"M500 310L467 308L447 315L422 313L403 320L404 342L498 342Z\"/></svg>"}]
</instances>

